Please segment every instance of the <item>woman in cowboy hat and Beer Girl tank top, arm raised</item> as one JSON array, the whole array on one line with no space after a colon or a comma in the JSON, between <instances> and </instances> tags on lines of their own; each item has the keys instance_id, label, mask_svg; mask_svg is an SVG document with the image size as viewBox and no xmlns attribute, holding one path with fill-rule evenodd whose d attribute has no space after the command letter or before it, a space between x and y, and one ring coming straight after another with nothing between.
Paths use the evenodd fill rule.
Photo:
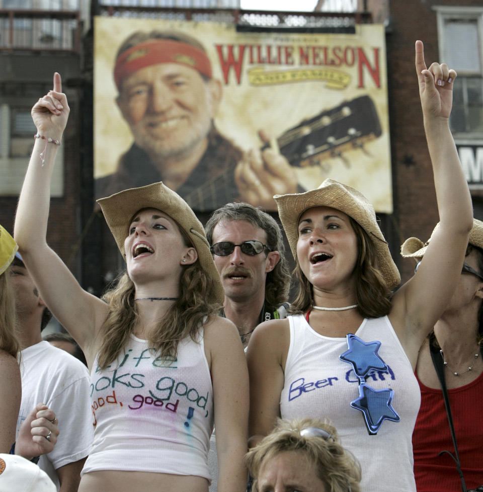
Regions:
<instances>
[{"instance_id":1,"label":"woman in cowboy hat and Beer Girl tank top, arm raised","mask_svg":"<svg viewBox=\"0 0 483 492\"><path fill-rule=\"evenodd\" d=\"M428 70L421 41L416 71L441 223L421 268L390 292L399 273L372 204L354 188L326 180L275 196L300 288L292 316L262 323L247 353L250 445L277 417L328 418L361 463L362 492L416 490L414 368L457 284L472 225L448 125L456 73L438 63Z\"/></svg>"}]
</instances>

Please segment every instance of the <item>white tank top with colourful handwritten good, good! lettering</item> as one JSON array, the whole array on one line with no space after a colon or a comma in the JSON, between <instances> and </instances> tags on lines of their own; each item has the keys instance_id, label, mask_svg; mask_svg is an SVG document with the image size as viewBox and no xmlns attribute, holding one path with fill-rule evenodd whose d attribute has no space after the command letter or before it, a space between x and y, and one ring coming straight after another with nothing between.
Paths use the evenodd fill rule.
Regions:
<instances>
[{"instance_id":1,"label":"white tank top with colourful handwritten good, good! lettering","mask_svg":"<svg viewBox=\"0 0 483 492\"><path fill-rule=\"evenodd\" d=\"M91 374L94 443L83 473L126 470L209 480L213 388L203 336L167 361L134 335L115 363Z\"/></svg>"}]
</instances>

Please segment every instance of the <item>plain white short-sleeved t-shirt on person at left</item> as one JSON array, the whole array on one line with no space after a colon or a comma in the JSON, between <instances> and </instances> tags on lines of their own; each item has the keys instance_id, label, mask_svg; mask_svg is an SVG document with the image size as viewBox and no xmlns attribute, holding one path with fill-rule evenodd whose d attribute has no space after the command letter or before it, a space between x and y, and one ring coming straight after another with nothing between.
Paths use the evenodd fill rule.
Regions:
<instances>
[{"instance_id":1,"label":"plain white short-sleeved t-shirt on person at left","mask_svg":"<svg viewBox=\"0 0 483 492\"><path fill-rule=\"evenodd\" d=\"M81 361L45 341L22 350L20 371L22 403L17 436L37 403L45 403L55 412L60 434L53 451L40 457L39 466L59 489L55 470L85 458L94 437L89 371Z\"/></svg>"}]
</instances>

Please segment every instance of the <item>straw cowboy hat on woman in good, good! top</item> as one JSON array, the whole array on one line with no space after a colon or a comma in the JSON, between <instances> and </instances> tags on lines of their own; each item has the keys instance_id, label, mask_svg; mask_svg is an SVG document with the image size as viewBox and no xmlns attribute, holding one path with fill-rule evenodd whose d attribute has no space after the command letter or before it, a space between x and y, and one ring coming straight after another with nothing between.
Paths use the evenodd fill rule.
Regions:
<instances>
[{"instance_id":1,"label":"straw cowboy hat on woman in good, good! top","mask_svg":"<svg viewBox=\"0 0 483 492\"><path fill-rule=\"evenodd\" d=\"M223 302L223 286L211 256L203 225L177 193L163 182L159 182L140 188L130 188L110 197L101 198L97 202L124 258L126 257L124 239L128 235L129 224L136 212L143 208L156 208L176 220L196 248L201 268L213 279L215 293L210 301Z\"/></svg>"}]
</instances>

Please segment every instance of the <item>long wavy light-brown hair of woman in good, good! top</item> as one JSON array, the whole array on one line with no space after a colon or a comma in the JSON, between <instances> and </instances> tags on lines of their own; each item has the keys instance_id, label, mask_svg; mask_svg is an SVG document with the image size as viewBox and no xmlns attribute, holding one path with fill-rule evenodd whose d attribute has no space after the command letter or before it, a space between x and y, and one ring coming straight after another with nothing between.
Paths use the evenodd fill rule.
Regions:
<instances>
[{"instance_id":1,"label":"long wavy light-brown hair of woman in good, good! top","mask_svg":"<svg viewBox=\"0 0 483 492\"><path fill-rule=\"evenodd\" d=\"M187 247L193 247L186 233L179 227ZM206 316L219 312L221 305L207 301L213 298L215 284L201 268L199 260L187 265L181 275L180 296L165 316L159 320L157 329L148 340L161 357L175 361L178 344L190 336L198 339ZM102 299L109 305L109 313L104 321L100 335L102 344L99 350L98 366L106 369L121 354L139 319L134 302L135 287L127 272L124 272L112 289Z\"/></svg>"}]
</instances>

